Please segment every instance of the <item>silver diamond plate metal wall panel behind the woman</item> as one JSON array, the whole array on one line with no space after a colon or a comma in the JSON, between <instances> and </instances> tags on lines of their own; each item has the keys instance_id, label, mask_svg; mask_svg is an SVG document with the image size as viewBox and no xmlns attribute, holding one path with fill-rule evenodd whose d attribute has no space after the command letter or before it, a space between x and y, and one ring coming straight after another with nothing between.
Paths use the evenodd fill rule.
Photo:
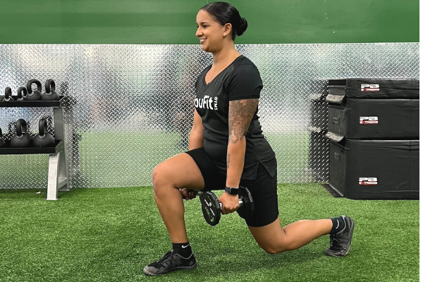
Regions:
<instances>
[{"instance_id":1,"label":"silver diamond plate metal wall panel behind the woman","mask_svg":"<svg viewBox=\"0 0 423 282\"><path fill-rule=\"evenodd\" d=\"M279 183L329 178L327 144L310 149L317 139L309 132L312 120L327 118L324 103L312 105L309 97L325 91L329 78L419 77L418 43L237 49L262 75L259 116ZM188 149L195 79L210 63L197 45L0 45L0 87L16 92L30 78L53 78L71 98L64 111L71 186L152 185L154 166ZM53 116L52 109L0 109L0 128L10 137L9 123L25 118L36 133L42 116ZM0 188L46 188L47 163L47 156L0 156Z\"/></svg>"}]
</instances>

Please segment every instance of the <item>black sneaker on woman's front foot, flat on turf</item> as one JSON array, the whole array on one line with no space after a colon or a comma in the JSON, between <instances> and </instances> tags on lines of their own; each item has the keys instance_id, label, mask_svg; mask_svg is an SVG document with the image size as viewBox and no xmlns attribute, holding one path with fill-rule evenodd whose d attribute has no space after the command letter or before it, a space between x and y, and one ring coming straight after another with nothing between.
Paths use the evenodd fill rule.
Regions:
<instances>
[{"instance_id":1,"label":"black sneaker on woman's front foot, flat on turf","mask_svg":"<svg viewBox=\"0 0 423 282\"><path fill-rule=\"evenodd\" d=\"M157 262L153 262L145 266L144 274L148 276L156 276L160 274L166 274L173 270L189 270L195 269L197 262L195 262L194 254L190 257L185 258L179 254L173 252L167 252L164 257L159 259Z\"/></svg>"}]
</instances>

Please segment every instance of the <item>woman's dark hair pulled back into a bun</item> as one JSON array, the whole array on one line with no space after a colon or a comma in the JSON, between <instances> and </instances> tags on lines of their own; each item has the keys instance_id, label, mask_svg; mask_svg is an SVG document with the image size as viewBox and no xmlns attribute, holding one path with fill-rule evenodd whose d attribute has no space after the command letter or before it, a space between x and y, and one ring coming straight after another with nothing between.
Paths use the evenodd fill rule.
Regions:
<instances>
[{"instance_id":1,"label":"woman's dark hair pulled back into a bun","mask_svg":"<svg viewBox=\"0 0 423 282\"><path fill-rule=\"evenodd\" d=\"M202 7L201 10L207 11L221 25L230 23L232 25L233 40L235 40L237 35L243 35L245 30L247 30L247 20L241 18L240 12L232 4L227 2L212 2Z\"/></svg>"}]
</instances>

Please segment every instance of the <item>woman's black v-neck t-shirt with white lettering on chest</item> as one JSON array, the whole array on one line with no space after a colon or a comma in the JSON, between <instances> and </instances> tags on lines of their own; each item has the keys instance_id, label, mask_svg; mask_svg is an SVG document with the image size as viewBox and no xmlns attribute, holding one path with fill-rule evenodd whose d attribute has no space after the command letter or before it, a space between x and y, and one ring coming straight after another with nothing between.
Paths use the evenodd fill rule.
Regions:
<instances>
[{"instance_id":1,"label":"woman's black v-neck t-shirt with white lettering on chest","mask_svg":"<svg viewBox=\"0 0 423 282\"><path fill-rule=\"evenodd\" d=\"M258 99L263 84L255 64L243 55L238 56L207 85L205 76L210 68L212 66L205 68L195 82L195 109L204 126L204 150L212 157L221 173L226 174L229 101ZM245 180L256 179L259 163L266 167L272 177L276 172L275 153L262 134L258 110L257 106L245 135L247 145L241 176Z\"/></svg>"}]
</instances>

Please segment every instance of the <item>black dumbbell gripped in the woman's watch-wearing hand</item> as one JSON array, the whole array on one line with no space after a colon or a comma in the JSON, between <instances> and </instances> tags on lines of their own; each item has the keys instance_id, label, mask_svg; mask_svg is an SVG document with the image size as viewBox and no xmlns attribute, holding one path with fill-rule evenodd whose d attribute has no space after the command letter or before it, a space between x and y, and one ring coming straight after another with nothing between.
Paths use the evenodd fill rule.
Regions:
<instances>
[{"instance_id":1,"label":"black dumbbell gripped in the woman's watch-wearing hand","mask_svg":"<svg viewBox=\"0 0 423 282\"><path fill-rule=\"evenodd\" d=\"M215 226L219 223L223 204L219 202L219 199L216 197L214 192L195 190L194 194L200 195L201 209L206 222L211 226ZM236 210L236 212L238 212L239 216L243 219L248 219L252 216L252 212L254 211L252 195L247 188L240 186L238 190L238 198L240 207Z\"/></svg>"}]
</instances>

